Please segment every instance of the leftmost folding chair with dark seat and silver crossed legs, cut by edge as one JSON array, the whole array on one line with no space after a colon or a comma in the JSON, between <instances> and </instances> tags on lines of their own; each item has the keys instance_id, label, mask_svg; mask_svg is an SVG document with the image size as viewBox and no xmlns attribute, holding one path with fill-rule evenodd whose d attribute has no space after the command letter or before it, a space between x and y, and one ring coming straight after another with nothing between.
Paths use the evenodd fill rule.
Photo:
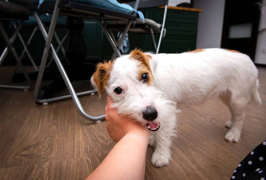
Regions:
<instances>
[{"instance_id":1,"label":"leftmost folding chair with dark seat and silver crossed legs, cut by edge","mask_svg":"<svg viewBox=\"0 0 266 180\"><path fill-rule=\"evenodd\" d=\"M27 47L25 46L25 43L24 43L21 35L19 34L19 31L22 28L22 24L23 24L24 20L28 19L29 13L30 13L30 11L27 8L25 8L24 6L20 6L20 5L17 5L15 3L11 3L11 2L0 1L0 32L1 32L5 42L7 44L6 48L4 49L4 51L0 57L0 66L1 66L3 60L5 59L7 53L10 51L13 54L16 62L18 63L18 66L22 69L23 75L26 77L26 80L29 84L28 86L0 85L0 87L2 87L2 88L24 89L26 91L31 86L30 77L28 76L28 73L22 64L21 59L19 58L19 56L16 53L16 50L13 46L13 43L14 43L16 37L19 36L20 41L22 42L25 51L28 53ZM11 36L11 38L9 39L1 21L10 21L10 20L11 21L20 20L20 23L18 24L17 27L15 24L13 24L15 26L15 31L14 31L13 35Z\"/></svg>"}]
</instances>

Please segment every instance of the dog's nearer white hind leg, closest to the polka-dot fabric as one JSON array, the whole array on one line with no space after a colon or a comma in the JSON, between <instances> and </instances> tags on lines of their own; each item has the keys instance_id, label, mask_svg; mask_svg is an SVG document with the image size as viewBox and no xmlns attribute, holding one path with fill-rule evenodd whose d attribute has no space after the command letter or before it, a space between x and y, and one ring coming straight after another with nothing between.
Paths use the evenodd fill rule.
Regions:
<instances>
[{"instance_id":1,"label":"dog's nearer white hind leg, closest to the polka-dot fabric","mask_svg":"<svg viewBox=\"0 0 266 180\"><path fill-rule=\"evenodd\" d=\"M250 96L234 96L231 95L229 101L229 109L231 111L231 122L227 123L227 126L231 129L226 133L225 139L229 142L238 142L240 140L240 134L243 126L243 120L245 115L245 109L247 107Z\"/></svg>"}]
</instances>

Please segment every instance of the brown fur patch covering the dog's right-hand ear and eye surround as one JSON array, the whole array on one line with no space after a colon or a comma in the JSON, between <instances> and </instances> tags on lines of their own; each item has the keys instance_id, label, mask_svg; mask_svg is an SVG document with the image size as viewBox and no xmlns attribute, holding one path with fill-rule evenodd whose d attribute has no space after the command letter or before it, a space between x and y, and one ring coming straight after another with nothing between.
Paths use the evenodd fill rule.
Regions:
<instances>
[{"instance_id":1,"label":"brown fur patch covering the dog's right-hand ear and eye surround","mask_svg":"<svg viewBox=\"0 0 266 180\"><path fill-rule=\"evenodd\" d=\"M149 60L152 59L151 55L145 54L143 51L135 48L133 51L130 52L130 58L135 59L140 63L139 65L140 70L138 74L139 81L142 80L142 75L144 73L147 73L149 76L149 80L147 81L147 84L152 85L153 77L151 73L151 67L149 64Z\"/></svg>"}]
</instances>

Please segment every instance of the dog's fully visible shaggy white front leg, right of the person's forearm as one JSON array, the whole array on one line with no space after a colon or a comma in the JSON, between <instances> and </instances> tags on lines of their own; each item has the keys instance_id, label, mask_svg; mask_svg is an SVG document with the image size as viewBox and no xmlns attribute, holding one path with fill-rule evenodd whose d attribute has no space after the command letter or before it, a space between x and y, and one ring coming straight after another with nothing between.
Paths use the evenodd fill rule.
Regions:
<instances>
[{"instance_id":1,"label":"dog's fully visible shaggy white front leg, right of the person's forearm","mask_svg":"<svg viewBox=\"0 0 266 180\"><path fill-rule=\"evenodd\" d=\"M176 120L174 119L173 122L174 123L167 124L166 122L165 124L161 124L160 129L153 135L156 138L156 145L151 161L155 167L168 165L171 160L170 148L172 145L172 138L176 135L176 130L174 130Z\"/></svg>"}]
</instances>

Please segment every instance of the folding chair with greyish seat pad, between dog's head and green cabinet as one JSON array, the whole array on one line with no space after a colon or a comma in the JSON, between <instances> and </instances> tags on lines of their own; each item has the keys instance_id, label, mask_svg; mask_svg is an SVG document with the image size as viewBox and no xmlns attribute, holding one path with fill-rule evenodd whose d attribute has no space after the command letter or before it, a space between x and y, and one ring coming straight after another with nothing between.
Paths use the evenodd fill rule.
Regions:
<instances>
[{"instance_id":1,"label":"folding chair with greyish seat pad, between dog's head and green cabinet","mask_svg":"<svg viewBox=\"0 0 266 180\"><path fill-rule=\"evenodd\" d=\"M134 2L128 3L129 5L133 6ZM136 19L136 22L134 25L131 25L131 27L128 30L128 34L151 34L152 36L152 42L154 45L154 49L156 54L159 53L160 50L160 45L161 45L161 40L165 36L166 29L165 29L165 18L166 18L166 13L167 13L167 5L168 5L168 0L140 0L138 8L151 8L151 7L158 7L158 6L165 6L164 9L164 17L163 17L163 23L159 24L153 21L152 19L144 19L143 20L140 18ZM112 30L122 32L123 29L125 28L126 21L121 21L121 20L115 20L115 21L105 21L107 24L107 29L109 30L111 36L113 39L115 39ZM156 44L155 40L155 33L160 33L160 38L158 45ZM117 48L120 49L122 42L118 40L116 43ZM112 56L112 60L115 59L116 55L115 53Z\"/></svg>"}]
</instances>

